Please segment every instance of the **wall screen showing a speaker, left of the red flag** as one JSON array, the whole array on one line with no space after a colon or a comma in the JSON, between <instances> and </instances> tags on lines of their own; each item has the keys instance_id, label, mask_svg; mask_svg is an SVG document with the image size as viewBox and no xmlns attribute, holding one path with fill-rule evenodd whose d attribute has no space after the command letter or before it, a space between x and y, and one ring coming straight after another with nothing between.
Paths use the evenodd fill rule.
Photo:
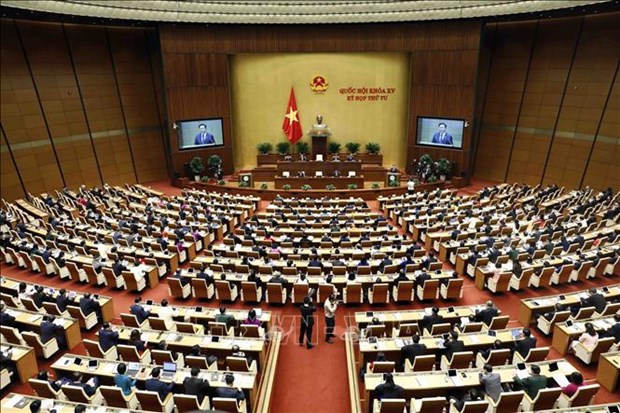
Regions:
<instances>
[{"instance_id":1,"label":"wall screen showing a speaker, left of the red flag","mask_svg":"<svg viewBox=\"0 0 620 413\"><path fill-rule=\"evenodd\" d=\"M194 150L224 145L222 118L176 122L179 150Z\"/></svg>"}]
</instances>

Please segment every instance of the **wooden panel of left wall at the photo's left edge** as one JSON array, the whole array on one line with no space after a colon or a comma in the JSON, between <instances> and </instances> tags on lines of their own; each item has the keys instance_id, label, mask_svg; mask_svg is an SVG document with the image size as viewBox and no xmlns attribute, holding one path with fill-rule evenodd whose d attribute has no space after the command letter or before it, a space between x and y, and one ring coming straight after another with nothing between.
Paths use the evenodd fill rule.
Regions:
<instances>
[{"instance_id":1,"label":"wooden panel of left wall at the photo's left edge","mask_svg":"<svg viewBox=\"0 0 620 413\"><path fill-rule=\"evenodd\" d=\"M13 21L2 20L1 29L0 121L4 133L3 139L13 151L15 166L23 179L24 190L32 193L53 191L61 188L64 181L56 162L28 63ZM2 187L5 185L4 172L10 173L10 164L4 165L7 163L4 162L5 156L3 151ZM13 187L15 180L7 178L6 182L9 187ZM17 196L19 191L5 192L3 189L2 196L6 197L5 199L12 200L11 194Z\"/></svg>"}]
</instances>

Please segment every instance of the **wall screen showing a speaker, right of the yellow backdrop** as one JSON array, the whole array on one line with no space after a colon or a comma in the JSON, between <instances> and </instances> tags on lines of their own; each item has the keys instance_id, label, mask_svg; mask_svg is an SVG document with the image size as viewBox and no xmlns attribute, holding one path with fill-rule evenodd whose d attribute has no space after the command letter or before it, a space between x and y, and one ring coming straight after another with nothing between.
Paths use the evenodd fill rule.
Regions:
<instances>
[{"instance_id":1,"label":"wall screen showing a speaker, right of the yellow backdrop","mask_svg":"<svg viewBox=\"0 0 620 413\"><path fill-rule=\"evenodd\" d=\"M465 120L418 117L416 143L421 146L462 149Z\"/></svg>"}]
</instances>

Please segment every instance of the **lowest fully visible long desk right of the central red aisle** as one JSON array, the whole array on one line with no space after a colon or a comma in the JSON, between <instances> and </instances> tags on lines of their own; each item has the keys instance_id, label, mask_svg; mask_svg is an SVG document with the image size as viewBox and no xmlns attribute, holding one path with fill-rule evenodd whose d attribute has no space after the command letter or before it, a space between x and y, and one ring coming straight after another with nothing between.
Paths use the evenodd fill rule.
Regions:
<instances>
[{"instance_id":1,"label":"lowest fully visible long desk right of the central red aisle","mask_svg":"<svg viewBox=\"0 0 620 413\"><path fill-rule=\"evenodd\" d=\"M549 364L552 362L557 362L559 367L559 369L553 373L549 371ZM532 364L537 364L540 366L540 374L549 379L552 379L553 374L559 373L564 376L569 376L573 372L578 371L566 360L547 360ZM531 366L531 364L527 364L528 370L529 366ZM513 376L516 373L516 366L496 366L493 367L493 371L499 373L502 383L511 383L513 381ZM409 399L411 397L421 398L446 396L448 392L453 391L454 389L465 390L472 387L478 387L480 386L480 380L478 378L479 373L479 368L457 370L458 380L461 381L458 384L455 384L451 379L449 379L447 377L447 372L445 371L393 373L393 376L394 382L405 389L404 398ZM364 375L366 402L369 407L372 406L372 400L374 399L374 389L382 382L383 374L381 373L370 373Z\"/></svg>"}]
</instances>

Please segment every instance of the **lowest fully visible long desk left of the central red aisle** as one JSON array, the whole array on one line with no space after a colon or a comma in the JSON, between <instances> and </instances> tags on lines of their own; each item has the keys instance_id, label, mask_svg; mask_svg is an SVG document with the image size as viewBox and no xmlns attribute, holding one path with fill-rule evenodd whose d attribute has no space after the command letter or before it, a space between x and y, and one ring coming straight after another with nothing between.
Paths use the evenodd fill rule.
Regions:
<instances>
[{"instance_id":1,"label":"lowest fully visible long desk left of the central red aisle","mask_svg":"<svg viewBox=\"0 0 620 413\"><path fill-rule=\"evenodd\" d=\"M75 364L75 358L80 358L82 360L80 365ZM88 369L88 360L98 360L99 365L97 368L93 370ZM95 357L82 356L77 354L65 354L60 357L54 364L52 364L52 369L56 372L58 377L71 375L73 372L81 372L85 378L90 378L93 376L99 377L100 383L103 385L112 385L114 386L114 376L116 375L116 368L121 363L121 361L110 361L104 359L98 359ZM149 364L140 364L141 371L138 373L135 378L138 379L138 388L144 388L144 381L150 377L151 370L161 366L149 365ZM161 379L165 382L171 382L175 384L177 388L176 393L183 393L182 386L183 380L186 377L190 376L190 368L180 368L177 369L176 374L170 380ZM226 383L224 382L224 377L226 374L230 374L222 371L207 371L202 370L199 377L206 378L209 380L209 384L211 387L226 387ZM234 372L235 376L235 387L240 387L248 398L248 402L251 404L255 397L255 392L258 388L258 380L256 380L256 373L245 373L245 372Z\"/></svg>"}]
</instances>

